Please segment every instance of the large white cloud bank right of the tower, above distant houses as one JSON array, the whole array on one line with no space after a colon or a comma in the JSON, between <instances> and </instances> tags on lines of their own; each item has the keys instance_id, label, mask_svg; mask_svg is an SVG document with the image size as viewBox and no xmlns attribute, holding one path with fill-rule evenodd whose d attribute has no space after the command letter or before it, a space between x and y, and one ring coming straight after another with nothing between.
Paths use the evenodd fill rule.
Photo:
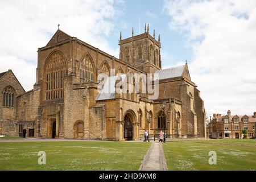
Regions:
<instances>
[{"instance_id":1,"label":"large white cloud bank right of the tower, above distant houses","mask_svg":"<svg viewBox=\"0 0 256 182\"><path fill-rule=\"evenodd\" d=\"M170 28L193 48L189 64L208 114L256 111L256 1L165 1Z\"/></svg>"}]
</instances>

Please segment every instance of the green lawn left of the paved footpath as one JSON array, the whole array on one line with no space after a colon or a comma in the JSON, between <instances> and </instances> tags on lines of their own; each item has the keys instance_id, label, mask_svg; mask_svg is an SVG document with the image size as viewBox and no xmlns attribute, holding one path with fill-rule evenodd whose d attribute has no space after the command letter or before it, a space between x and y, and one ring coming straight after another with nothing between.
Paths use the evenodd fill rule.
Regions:
<instances>
[{"instance_id":1,"label":"green lawn left of the paved footpath","mask_svg":"<svg viewBox=\"0 0 256 182\"><path fill-rule=\"evenodd\" d=\"M150 143L2 142L0 170L138 170ZM46 165L38 152L46 152Z\"/></svg>"}]
</instances>

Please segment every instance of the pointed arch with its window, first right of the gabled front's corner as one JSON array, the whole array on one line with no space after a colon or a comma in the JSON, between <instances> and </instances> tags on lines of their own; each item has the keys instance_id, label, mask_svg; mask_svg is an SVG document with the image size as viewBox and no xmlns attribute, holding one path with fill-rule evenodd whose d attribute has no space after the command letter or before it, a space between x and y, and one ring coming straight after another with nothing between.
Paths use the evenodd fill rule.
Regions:
<instances>
[{"instance_id":1,"label":"pointed arch with its window, first right of the gabled front's corner","mask_svg":"<svg viewBox=\"0 0 256 182\"><path fill-rule=\"evenodd\" d=\"M79 63L79 76L80 82L95 81L96 67L92 56L89 52L86 52Z\"/></svg>"}]
</instances>

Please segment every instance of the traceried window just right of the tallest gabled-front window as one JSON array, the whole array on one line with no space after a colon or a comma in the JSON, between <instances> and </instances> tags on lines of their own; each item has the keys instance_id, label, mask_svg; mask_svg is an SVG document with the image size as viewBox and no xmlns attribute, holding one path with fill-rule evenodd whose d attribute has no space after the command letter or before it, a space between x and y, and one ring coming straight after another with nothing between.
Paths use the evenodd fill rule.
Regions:
<instances>
[{"instance_id":1,"label":"traceried window just right of the tallest gabled-front window","mask_svg":"<svg viewBox=\"0 0 256 182\"><path fill-rule=\"evenodd\" d=\"M80 63L80 82L93 81L93 64L89 55L86 55Z\"/></svg>"}]
</instances>

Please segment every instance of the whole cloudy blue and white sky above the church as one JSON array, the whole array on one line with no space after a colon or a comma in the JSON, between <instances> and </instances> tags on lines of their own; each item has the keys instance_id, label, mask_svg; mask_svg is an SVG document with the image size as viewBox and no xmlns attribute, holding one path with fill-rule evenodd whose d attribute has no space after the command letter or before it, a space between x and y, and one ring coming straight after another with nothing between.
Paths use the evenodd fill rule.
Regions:
<instances>
[{"instance_id":1,"label":"whole cloudy blue and white sky above the church","mask_svg":"<svg viewBox=\"0 0 256 182\"><path fill-rule=\"evenodd\" d=\"M139 24L140 20L140 24ZM255 0L73 0L0 2L0 72L12 69L25 90L36 77L37 49L60 29L118 57L123 38L161 35L163 67L188 60L208 115L256 111Z\"/></svg>"}]
</instances>

